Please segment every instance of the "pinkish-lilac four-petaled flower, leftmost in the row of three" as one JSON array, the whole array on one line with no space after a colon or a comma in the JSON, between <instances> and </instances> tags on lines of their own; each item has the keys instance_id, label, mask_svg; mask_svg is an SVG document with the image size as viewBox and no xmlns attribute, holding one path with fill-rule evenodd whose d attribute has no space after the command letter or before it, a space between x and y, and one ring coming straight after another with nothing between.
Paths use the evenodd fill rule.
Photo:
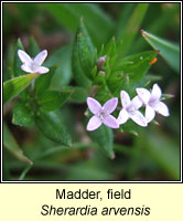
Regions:
<instances>
[{"instance_id":1,"label":"pinkish-lilac four-petaled flower, leftmost in the row of three","mask_svg":"<svg viewBox=\"0 0 183 221\"><path fill-rule=\"evenodd\" d=\"M118 98L114 97L107 101L104 106L100 105L96 99L88 97L87 105L89 110L94 114L94 116L89 119L87 124L87 130L95 130L101 124L105 124L110 128L119 128L119 124L117 119L110 115L118 105Z\"/></svg>"}]
</instances>

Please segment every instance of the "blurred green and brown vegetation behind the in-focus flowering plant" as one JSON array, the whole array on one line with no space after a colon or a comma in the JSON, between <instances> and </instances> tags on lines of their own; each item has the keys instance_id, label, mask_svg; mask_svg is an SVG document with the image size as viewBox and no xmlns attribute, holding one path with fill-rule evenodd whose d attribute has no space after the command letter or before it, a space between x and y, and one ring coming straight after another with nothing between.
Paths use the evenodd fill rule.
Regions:
<instances>
[{"instance_id":1,"label":"blurred green and brown vegetation behind the in-focus flowering plant","mask_svg":"<svg viewBox=\"0 0 183 221\"><path fill-rule=\"evenodd\" d=\"M131 19L137 7L138 3L3 3L3 81L11 78L9 66L17 40L20 38L28 49L33 35L40 48L52 54L45 65L61 64L52 85L75 85L71 45L80 17L97 49L112 35L117 40L133 35L132 44L123 45L122 53L127 46L127 54L152 50L141 29L180 44L179 3L150 3L139 24L136 21L140 10L137 19ZM3 180L179 180L180 73L161 56L149 73L161 78L158 84L163 93L174 95L166 101L171 115L158 116L159 126L139 128L139 136L115 133L115 159L107 158L87 136L83 127L85 103L71 102L58 110L72 135L71 149L45 138L34 126L13 125L14 102L8 103L3 107ZM28 157L25 162L19 160L22 155Z\"/></svg>"}]
</instances>

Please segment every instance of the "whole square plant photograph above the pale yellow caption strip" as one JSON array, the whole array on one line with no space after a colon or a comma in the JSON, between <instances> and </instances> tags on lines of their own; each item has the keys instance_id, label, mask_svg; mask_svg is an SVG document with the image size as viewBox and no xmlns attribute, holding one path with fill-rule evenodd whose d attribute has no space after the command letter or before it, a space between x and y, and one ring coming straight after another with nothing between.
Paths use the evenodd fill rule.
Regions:
<instances>
[{"instance_id":1,"label":"whole square plant photograph above the pale yellow caption strip","mask_svg":"<svg viewBox=\"0 0 183 221\"><path fill-rule=\"evenodd\" d=\"M179 181L180 3L2 4L3 181Z\"/></svg>"}]
</instances>

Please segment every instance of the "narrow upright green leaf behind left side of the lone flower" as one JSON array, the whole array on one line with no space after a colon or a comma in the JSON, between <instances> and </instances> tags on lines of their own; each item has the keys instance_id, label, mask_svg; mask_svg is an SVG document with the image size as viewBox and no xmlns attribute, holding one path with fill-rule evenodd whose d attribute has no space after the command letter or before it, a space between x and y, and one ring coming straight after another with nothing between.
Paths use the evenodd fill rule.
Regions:
<instances>
[{"instance_id":1,"label":"narrow upright green leaf behind left side of the lone flower","mask_svg":"<svg viewBox=\"0 0 183 221\"><path fill-rule=\"evenodd\" d=\"M19 59L18 50L23 50L24 51L23 44L22 44L22 42L21 42L20 39L18 39L18 43L17 43L17 48L15 48L15 53L14 53L14 69L13 69L14 76L21 76L21 75L25 74L25 72L23 72L21 70L22 62Z\"/></svg>"}]
</instances>

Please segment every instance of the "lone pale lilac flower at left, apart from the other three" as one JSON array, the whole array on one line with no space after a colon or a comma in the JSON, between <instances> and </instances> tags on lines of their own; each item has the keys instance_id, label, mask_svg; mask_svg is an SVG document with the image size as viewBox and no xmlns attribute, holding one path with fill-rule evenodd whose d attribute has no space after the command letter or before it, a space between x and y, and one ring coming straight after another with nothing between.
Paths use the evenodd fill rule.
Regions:
<instances>
[{"instance_id":1,"label":"lone pale lilac flower at left, apart from the other three","mask_svg":"<svg viewBox=\"0 0 183 221\"><path fill-rule=\"evenodd\" d=\"M46 50L41 51L34 59L31 59L30 55L22 50L18 51L18 55L23 63L21 69L24 72L44 74L50 71L47 67L41 66L47 56Z\"/></svg>"}]
</instances>

